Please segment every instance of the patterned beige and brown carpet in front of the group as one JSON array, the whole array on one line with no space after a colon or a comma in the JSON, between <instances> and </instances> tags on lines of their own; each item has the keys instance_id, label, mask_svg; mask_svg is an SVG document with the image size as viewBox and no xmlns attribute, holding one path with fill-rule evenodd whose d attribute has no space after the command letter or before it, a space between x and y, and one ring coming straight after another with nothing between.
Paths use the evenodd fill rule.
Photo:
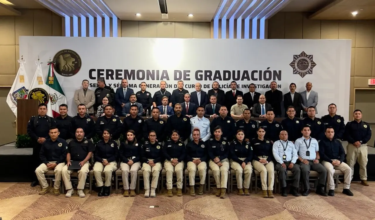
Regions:
<instances>
[{"instance_id":1,"label":"patterned beige and brown carpet in front of the group","mask_svg":"<svg viewBox=\"0 0 375 220\"><path fill-rule=\"evenodd\" d=\"M191 197L167 197L157 194L156 198L123 197L111 194L98 197L97 193L80 198L71 198L51 193L38 195L38 187L26 183L0 183L0 217L3 220L375 220L375 182L369 187L353 183L354 196L341 193L342 184L336 189L335 197L322 197L311 193L307 197L282 197L264 199L261 192L251 196L228 194L219 199L212 194ZM159 206L150 208L150 206Z\"/></svg>"}]
</instances>

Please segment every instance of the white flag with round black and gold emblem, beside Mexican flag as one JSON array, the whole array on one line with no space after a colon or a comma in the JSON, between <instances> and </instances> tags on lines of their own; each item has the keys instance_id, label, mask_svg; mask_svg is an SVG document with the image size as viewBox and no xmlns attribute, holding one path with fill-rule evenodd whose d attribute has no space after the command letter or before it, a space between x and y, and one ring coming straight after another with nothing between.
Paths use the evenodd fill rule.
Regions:
<instances>
[{"instance_id":1,"label":"white flag with round black and gold emblem, beside Mexican flag","mask_svg":"<svg viewBox=\"0 0 375 220\"><path fill-rule=\"evenodd\" d=\"M28 99L37 99L39 104L45 103L47 105L47 115L53 117L51 109L51 101L49 101L48 91L49 86L45 83L43 72L42 72L42 62L36 62L36 71L31 80L30 89L28 90Z\"/></svg>"}]
</instances>

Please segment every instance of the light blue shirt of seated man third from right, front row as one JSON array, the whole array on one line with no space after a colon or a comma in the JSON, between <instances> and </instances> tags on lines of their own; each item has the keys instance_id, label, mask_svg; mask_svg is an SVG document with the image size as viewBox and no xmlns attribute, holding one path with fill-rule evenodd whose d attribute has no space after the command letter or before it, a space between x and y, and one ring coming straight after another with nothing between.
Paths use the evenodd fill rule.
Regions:
<instances>
[{"instance_id":1,"label":"light blue shirt of seated man third from right, front row","mask_svg":"<svg viewBox=\"0 0 375 220\"><path fill-rule=\"evenodd\" d=\"M284 148L286 148L285 151L284 151ZM272 153L273 153L273 157L275 157L275 160L279 164L283 164L284 162L288 162L288 161L290 161L291 163L296 163L298 159L296 147L291 141L286 141L286 142L284 140L275 141L275 143L273 143ZM282 158L284 154L287 156L286 159Z\"/></svg>"}]
</instances>

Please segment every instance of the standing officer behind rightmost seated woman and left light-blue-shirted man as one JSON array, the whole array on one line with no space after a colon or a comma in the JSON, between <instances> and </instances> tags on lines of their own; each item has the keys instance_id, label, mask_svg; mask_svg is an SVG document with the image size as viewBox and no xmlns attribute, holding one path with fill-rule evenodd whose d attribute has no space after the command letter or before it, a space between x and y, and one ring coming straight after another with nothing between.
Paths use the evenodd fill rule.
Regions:
<instances>
[{"instance_id":1,"label":"standing officer behind rightmost seated woman and left light-blue-shirted man","mask_svg":"<svg viewBox=\"0 0 375 220\"><path fill-rule=\"evenodd\" d=\"M280 134L283 128L281 123L275 120L275 113L273 112L272 108L267 110L266 119L267 120L264 120L259 124L259 126L263 127L264 131L266 131L264 138L271 140L272 143L280 140L278 134Z\"/></svg>"}]
</instances>

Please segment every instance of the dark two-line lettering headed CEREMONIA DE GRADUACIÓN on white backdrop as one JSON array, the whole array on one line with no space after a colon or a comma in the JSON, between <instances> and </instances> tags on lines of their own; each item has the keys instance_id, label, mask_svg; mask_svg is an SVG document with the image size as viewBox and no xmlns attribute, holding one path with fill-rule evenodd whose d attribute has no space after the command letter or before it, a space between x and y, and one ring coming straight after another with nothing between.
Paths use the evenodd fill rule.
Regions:
<instances>
[{"instance_id":1,"label":"dark two-line lettering headed CEREMONIA DE GRADUACI\u00d3N on white backdrop","mask_svg":"<svg viewBox=\"0 0 375 220\"><path fill-rule=\"evenodd\" d=\"M173 75L172 75L173 74ZM249 81L255 84L255 87L260 89L268 89L268 84L257 84L256 81L281 81L281 70L271 70L268 67L265 70L197 70L192 72L190 70L143 70L143 69L90 69L89 78L90 80L97 80L98 78L104 78L105 80L122 80L127 79L129 81L129 88L139 88L139 84L132 84L131 80L145 81L148 88L160 88L159 84L147 83L149 80L153 81L169 81L169 80L183 80L192 81L194 84L199 81L228 81L227 84L220 84L220 89L229 89L230 81L236 81L238 88L247 89L249 88ZM244 84L238 84L243 81ZM186 89L194 88L194 84L184 83ZM121 83L108 83L108 86L113 88L121 87ZM90 83L90 87L97 87L96 83ZM202 88L209 89L210 84L202 84ZM166 88L177 88L177 84L168 84ZM278 84L278 88L281 85Z\"/></svg>"}]
</instances>

